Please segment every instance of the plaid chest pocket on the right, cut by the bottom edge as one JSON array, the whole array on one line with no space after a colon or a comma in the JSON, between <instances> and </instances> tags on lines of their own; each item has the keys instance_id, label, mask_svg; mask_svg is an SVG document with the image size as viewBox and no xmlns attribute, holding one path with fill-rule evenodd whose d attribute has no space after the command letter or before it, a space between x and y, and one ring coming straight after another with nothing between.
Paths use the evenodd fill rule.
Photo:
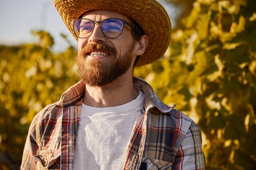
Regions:
<instances>
[{"instance_id":1,"label":"plaid chest pocket on the right, cut by the bottom edge","mask_svg":"<svg viewBox=\"0 0 256 170\"><path fill-rule=\"evenodd\" d=\"M147 170L171 170L173 163L159 159L142 158L142 162L147 163Z\"/></svg>"}]
</instances>

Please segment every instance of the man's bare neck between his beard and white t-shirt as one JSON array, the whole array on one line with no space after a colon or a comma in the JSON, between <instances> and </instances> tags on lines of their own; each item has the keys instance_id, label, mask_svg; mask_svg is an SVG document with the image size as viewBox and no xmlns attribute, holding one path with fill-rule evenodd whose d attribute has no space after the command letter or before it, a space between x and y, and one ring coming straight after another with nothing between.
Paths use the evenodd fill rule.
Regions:
<instances>
[{"instance_id":1,"label":"man's bare neck between his beard and white t-shirt","mask_svg":"<svg viewBox=\"0 0 256 170\"><path fill-rule=\"evenodd\" d=\"M126 104L139 95L132 75L126 73L104 86L86 86L83 103L92 107L114 107Z\"/></svg>"}]
</instances>

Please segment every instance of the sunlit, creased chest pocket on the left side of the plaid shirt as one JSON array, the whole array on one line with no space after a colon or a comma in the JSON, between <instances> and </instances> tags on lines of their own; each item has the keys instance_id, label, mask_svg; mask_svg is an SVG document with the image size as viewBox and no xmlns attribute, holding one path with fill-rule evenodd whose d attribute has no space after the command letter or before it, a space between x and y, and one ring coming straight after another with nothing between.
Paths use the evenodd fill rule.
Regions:
<instances>
[{"instance_id":1,"label":"sunlit, creased chest pocket on the left side of the plaid shirt","mask_svg":"<svg viewBox=\"0 0 256 170\"><path fill-rule=\"evenodd\" d=\"M33 156L36 162L36 170L60 170L61 152L58 150L38 150Z\"/></svg>"}]
</instances>

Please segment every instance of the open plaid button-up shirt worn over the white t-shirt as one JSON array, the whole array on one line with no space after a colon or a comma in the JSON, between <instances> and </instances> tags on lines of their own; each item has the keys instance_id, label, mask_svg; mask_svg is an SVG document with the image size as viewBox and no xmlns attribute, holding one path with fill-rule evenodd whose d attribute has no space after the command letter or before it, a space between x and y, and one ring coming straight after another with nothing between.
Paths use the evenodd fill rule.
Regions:
<instances>
[{"instance_id":1,"label":"open plaid button-up shirt worn over the white t-shirt","mask_svg":"<svg viewBox=\"0 0 256 170\"><path fill-rule=\"evenodd\" d=\"M137 117L132 129L124 169L205 170L198 126L174 106L166 106L149 84L139 78L133 81L144 93L144 114ZM72 170L84 92L85 84L79 82L34 117L21 170Z\"/></svg>"}]
</instances>

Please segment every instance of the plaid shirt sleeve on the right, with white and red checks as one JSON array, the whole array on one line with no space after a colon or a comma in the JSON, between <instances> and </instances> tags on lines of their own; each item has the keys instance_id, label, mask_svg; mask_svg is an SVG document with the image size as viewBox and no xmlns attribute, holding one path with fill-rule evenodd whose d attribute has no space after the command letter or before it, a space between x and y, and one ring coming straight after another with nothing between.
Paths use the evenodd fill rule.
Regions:
<instances>
[{"instance_id":1,"label":"plaid shirt sleeve on the right, with white and red checks","mask_svg":"<svg viewBox=\"0 0 256 170\"><path fill-rule=\"evenodd\" d=\"M192 122L175 156L172 170L206 170L199 127Z\"/></svg>"}]
</instances>

